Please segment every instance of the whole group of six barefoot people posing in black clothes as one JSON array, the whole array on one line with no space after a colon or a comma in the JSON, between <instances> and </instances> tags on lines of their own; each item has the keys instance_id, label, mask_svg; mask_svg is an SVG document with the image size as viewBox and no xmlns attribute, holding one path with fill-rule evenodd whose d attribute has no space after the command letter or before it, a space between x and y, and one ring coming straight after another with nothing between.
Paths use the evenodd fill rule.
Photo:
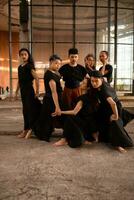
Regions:
<instances>
[{"instance_id":1,"label":"whole group of six barefoot people posing in black clothes","mask_svg":"<svg viewBox=\"0 0 134 200\"><path fill-rule=\"evenodd\" d=\"M63 135L55 146L68 144L76 148L82 144L105 142L120 152L133 147L124 126L134 114L122 108L116 91L110 86L113 68L108 64L107 51L100 52L103 65L99 70L96 70L92 54L85 57L85 67L78 64L76 48L69 49L69 63L64 65L58 55L52 55L44 74L42 104L38 99L39 82L33 59L25 48L20 49L19 56L21 65L18 67L16 96L20 88L24 130L18 137L28 139L33 132L38 139L49 142L58 125L63 129Z\"/></svg>"}]
</instances>

